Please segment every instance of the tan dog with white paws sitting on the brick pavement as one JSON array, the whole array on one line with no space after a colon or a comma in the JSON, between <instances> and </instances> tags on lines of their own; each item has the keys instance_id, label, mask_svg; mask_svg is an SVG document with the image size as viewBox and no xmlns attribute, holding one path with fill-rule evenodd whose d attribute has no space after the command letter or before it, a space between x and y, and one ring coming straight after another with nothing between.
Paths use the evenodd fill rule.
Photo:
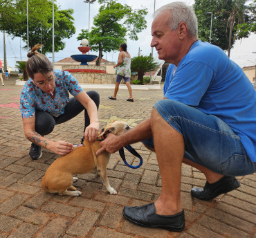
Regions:
<instances>
[{"instance_id":1,"label":"tan dog with white paws sitting on the brick pavement","mask_svg":"<svg viewBox=\"0 0 256 238\"><path fill-rule=\"evenodd\" d=\"M127 122L113 121L104 128L101 134L98 134L98 139L109 132L118 136L129 129L131 127ZM73 186L73 182L77 181L78 178L73 178L73 174L87 174L97 170L108 192L116 194L116 190L109 185L109 178L107 177L107 164L109 163L110 154L102 152L98 157L95 156L95 152L100 147L100 141L98 140L95 140L92 144L85 140L82 146L76 147L71 153L57 158L46 170L42 179L42 188L46 192L79 196L81 192Z\"/></svg>"}]
</instances>

